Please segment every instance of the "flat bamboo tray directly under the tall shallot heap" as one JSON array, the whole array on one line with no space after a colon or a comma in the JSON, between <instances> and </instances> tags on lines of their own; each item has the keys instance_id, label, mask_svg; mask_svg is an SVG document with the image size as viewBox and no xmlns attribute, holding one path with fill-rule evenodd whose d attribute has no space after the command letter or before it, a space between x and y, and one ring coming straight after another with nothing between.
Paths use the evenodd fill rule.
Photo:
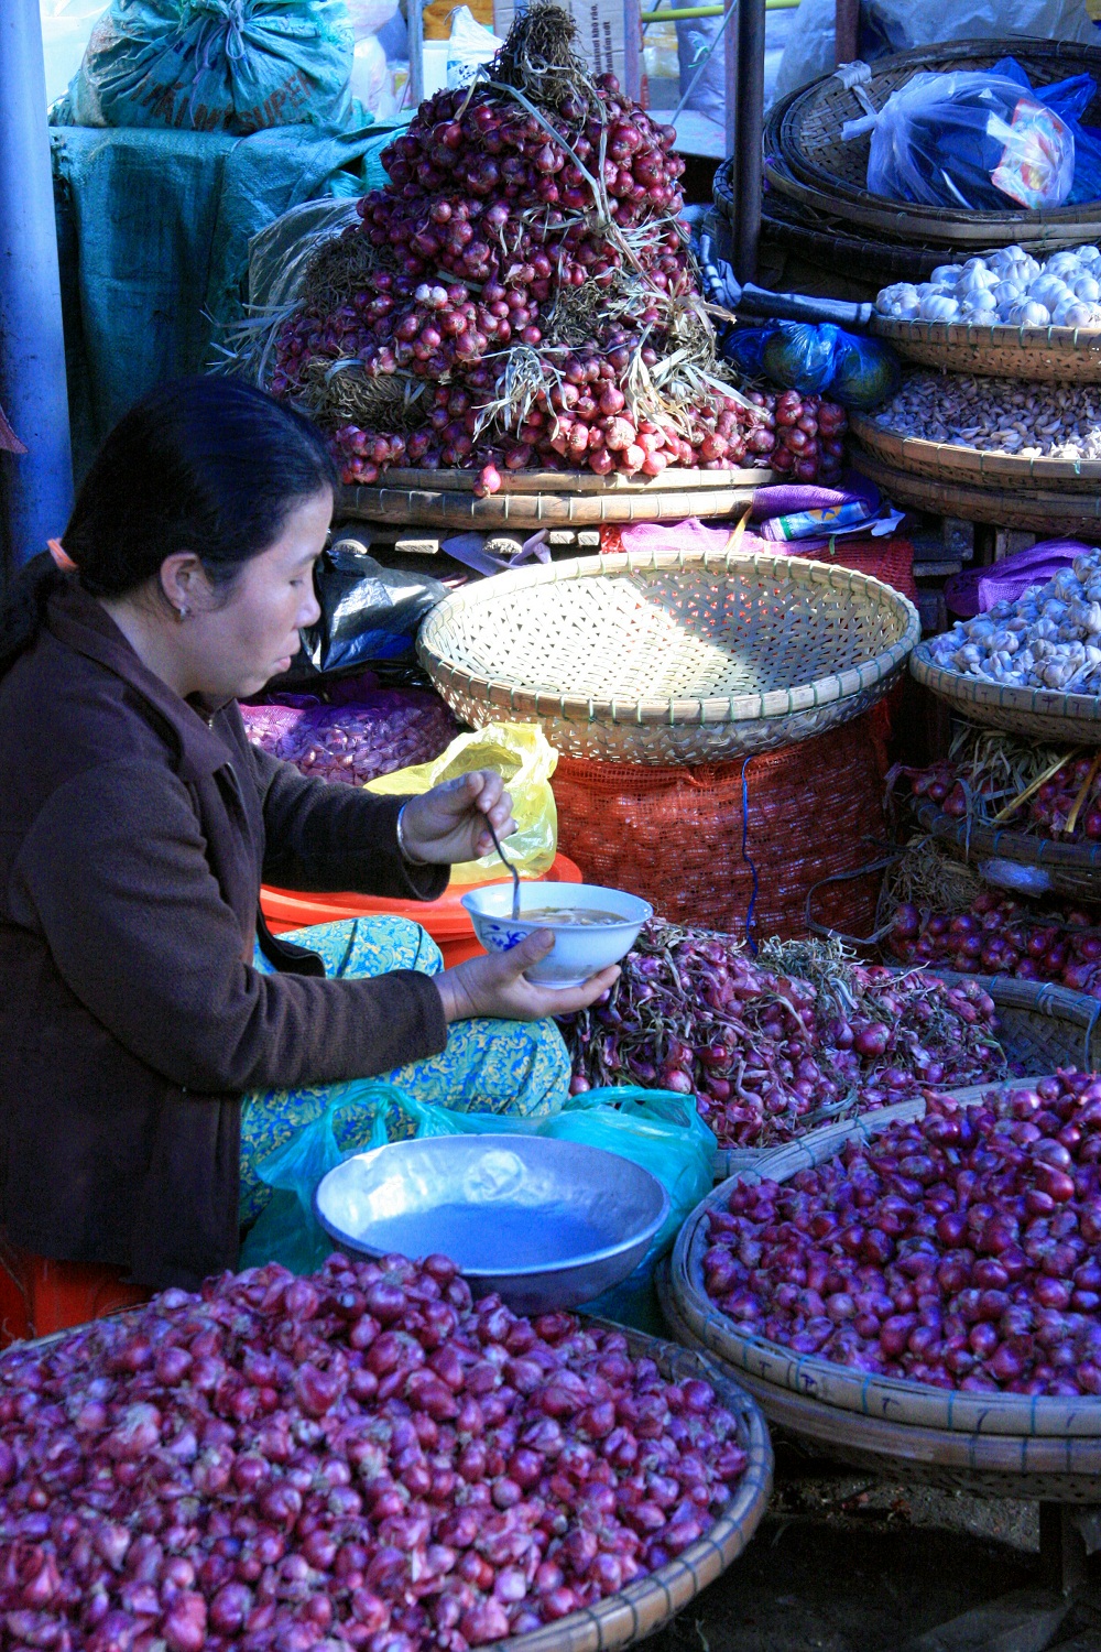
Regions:
<instances>
[{"instance_id":1,"label":"flat bamboo tray directly under the tall shallot heap","mask_svg":"<svg viewBox=\"0 0 1101 1652\"><path fill-rule=\"evenodd\" d=\"M512 471L479 499L477 471L386 471L378 487L345 487L340 512L366 522L421 527L593 527L601 522L683 522L740 514L771 471L665 471L640 481L591 471Z\"/></svg>"}]
</instances>

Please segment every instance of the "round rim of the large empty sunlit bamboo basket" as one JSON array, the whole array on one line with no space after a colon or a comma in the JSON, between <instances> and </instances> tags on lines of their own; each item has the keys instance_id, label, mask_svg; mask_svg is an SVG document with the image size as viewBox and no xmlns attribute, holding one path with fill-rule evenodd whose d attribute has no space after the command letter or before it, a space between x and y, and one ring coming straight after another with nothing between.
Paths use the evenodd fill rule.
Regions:
<instances>
[{"instance_id":1,"label":"round rim of the large empty sunlit bamboo basket","mask_svg":"<svg viewBox=\"0 0 1101 1652\"><path fill-rule=\"evenodd\" d=\"M465 666L451 664L436 653L436 638L456 615L510 598L517 590L538 585L569 583L583 578L604 578L634 573L667 573L672 570L715 570L735 573L751 568L759 575L782 575L792 583L829 585L834 590L860 591L877 606L893 608L901 626L901 636L862 666L848 666L809 684L789 689L769 689L764 694L708 695L705 699L607 699L568 694L555 689L522 687L484 676ZM533 712L536 717L558 715L573 722L606 722L631 725L692 725L692 724L746 724L789 717L794 712L812 710L830 702L845 700L891 677L906 661L921 636L918 610L881 580L868 573L809 558L768 555L764 552L607 552L599 557L576 557L538 568L515 568L494 580L467 585L447 596L421 624L416 651L432 681L442 681L451 689L474 694L480 700L507 705L510 712Z\"/></svg>"}]
</instances>

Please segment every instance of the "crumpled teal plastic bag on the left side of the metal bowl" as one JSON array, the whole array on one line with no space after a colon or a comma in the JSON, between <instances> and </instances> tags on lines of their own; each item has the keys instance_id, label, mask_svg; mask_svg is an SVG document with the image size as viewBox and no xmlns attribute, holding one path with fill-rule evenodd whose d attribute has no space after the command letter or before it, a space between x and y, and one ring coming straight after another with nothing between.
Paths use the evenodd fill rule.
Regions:
<instances>
[{"instance_id":1,"label":"crumpled teal plastic bag on the left side of the metal bowl","mask_svg":"<svg viewBox=\"0 0 1101 1652\"><path fill-rule=\"evenodd\" d=\"M386 1113L395 1105L409 1108L413 1104L393 1084L378 1084L375 1079L337 1084L320 1118L261 1160L256 1173L274 1193L244 1237L239 1260L243 1269L281 1262L292 1274L317 1272L335 1246L314 1216L314 1194L322 1178L352 1156L337 1142L337 1113L345 1107L358 1107L360 1112L375 1115L368 1145L353 1150L366 1153L386 1146Z\"/></svg>"}]
</instances>

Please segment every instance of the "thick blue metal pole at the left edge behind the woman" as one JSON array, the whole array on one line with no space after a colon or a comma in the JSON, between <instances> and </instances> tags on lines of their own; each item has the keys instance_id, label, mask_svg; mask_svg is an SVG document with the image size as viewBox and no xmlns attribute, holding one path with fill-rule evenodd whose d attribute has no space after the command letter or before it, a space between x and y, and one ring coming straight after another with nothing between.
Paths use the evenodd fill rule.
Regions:
<instances>
[{"instance_id":1,"label":"thick blue metal pole at the left edge behind the woman","mask_svg":"<svg viewBox=\"0 0 1101 1652\"><path fill-rule=\"evenodd\" d=\"M73 506L38 0L0 3L0 403L28 449L5 456L0 486L18 565L64 530Z\"/></svg>"}]
</instances>

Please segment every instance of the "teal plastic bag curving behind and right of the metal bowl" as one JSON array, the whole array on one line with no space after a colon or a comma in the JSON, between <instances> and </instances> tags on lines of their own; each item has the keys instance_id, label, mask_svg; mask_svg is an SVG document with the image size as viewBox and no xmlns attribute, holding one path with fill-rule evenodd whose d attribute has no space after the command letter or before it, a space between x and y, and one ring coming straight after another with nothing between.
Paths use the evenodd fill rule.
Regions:
<instances>
[{"instance_id":1,"label":"teal plastic bag curving behind and right of the metal bowl","mask_svg":"<svg viewBox=\"0 0 1101 1652\"><path fill-rule=\"evenodd\" d=\"M673 1090L586 1090L573 1095L558 1113L510 1118L507 1113L461 1113L404 1097L399 1104L414 1120L418 1137L432 1135L538 1135L556 1142L601 1146L649 1170L669 1193L669 1219L654 1244L622 1284L584 1307L621 1325L665 1335L654 1292L654 1269L672 1249L683 1222L713 1181L715 1135L697 1113L695 1100Z\"/></svg>"}]
</instances>

